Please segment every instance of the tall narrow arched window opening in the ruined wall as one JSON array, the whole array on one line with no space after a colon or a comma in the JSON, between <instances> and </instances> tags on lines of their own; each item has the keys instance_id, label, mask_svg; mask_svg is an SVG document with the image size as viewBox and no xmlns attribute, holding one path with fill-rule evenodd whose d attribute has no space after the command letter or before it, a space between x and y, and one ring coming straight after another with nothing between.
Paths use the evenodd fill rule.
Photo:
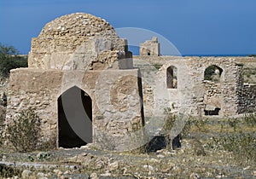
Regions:
<instances>
[{"instance_id":1,"label":"tall narrow arched window opening in the ruined wall","mask_svg":"<svg viewBox=\"0 0 256 179\"><path fill-rule=\"evenodd\" d=\"M167 89L177 89L177 67L169 66L166 70Z\"/></svg>"}]
</instances>

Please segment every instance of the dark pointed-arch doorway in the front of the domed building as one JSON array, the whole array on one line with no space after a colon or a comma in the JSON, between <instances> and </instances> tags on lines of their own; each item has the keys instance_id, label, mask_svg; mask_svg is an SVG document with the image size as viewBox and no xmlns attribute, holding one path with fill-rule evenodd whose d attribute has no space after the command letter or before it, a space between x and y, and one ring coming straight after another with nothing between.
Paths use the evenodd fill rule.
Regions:
<instances>
[{"instance_id":1,"label":"dark pointed-arch doorway in the front of the domed building","mask_svg":"<svg viewBox=\"0 0 256 179\"><path fill-rule=\"evenodd\" d=\"M81 147L92 142L92 101L73 86L58 98L58 145Z\"/></svg>"}]
</instances>

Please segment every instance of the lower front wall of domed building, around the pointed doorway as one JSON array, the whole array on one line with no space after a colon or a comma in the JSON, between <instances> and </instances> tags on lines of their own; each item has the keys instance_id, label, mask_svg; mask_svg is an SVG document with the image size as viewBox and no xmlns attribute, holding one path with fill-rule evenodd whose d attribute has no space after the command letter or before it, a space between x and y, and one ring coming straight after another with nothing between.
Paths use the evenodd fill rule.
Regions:
<instances>
[{"instance_id":1,"label":"lower front wall of domed building, around the pointed doorway","mask_svg":"<svg viewBox=\"0 0 256 179\"><path fill-rule=\"evenodd\" d=\"M104 134L102 143L111 139L114 141L111 149L121 150L131 143L124 137L143 126L137 76L137 69L86 72L32 68L12 70L6 123L16 118L21 110L32 107L41 118L43 139L56 137L57 140L58 98L77 86L92 100L93 141L97 143Z\"/></svg>"}]
</instances>

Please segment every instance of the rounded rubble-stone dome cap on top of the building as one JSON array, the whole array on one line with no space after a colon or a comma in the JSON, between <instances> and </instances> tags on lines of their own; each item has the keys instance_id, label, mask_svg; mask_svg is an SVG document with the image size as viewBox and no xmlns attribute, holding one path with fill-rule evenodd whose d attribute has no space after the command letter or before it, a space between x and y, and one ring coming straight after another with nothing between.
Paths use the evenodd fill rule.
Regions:
<instances>
[{"instance_id":1,"label":"rounded rubble-stone dome cap on top of the building","mask_svg":"<svg viewBox=\"0 0 256 179\"><path fill-rule=\"evenodd\" d=\"M106 20L92 14L75 13L63 15L47 23L38 38L73 38L73 37L119 38Z\"/></svg>"}]
</instances>

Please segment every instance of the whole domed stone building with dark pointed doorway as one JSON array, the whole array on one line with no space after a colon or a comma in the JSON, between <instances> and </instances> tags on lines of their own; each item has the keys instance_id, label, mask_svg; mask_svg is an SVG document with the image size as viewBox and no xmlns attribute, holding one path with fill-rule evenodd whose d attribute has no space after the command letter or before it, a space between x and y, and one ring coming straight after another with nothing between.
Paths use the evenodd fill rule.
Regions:
<instances>
[{"instance_id":1,"label":"whole domed stone building with dark pointed doorway","mask_svg":"<svg viewBox=\"0 0 256 179\"><path fill-rule=\"evenodd\" d=\"M6 122L11 122L22 109L33 107L42 120L43 140L56 137L59 147L79 147L69 145L78 136L62 141L68 133L73 133L65 118L70 125L75 119L80 123L84 120L73 113L77 109L68 105L69 101L67 104L63 101L67 94L81 95L83 99L86 95L91 104L86 100L82 102L92 106L91 122L86 122L92 123L92 129L84 126L88 131L81 136L88 137L86 134L92 130L89 141L102 148L123 150L131 143L129 134L143 126L138 76L126 40L120 39L106 20L90 14L64 15L45 25L38 38L32 38L28 68L11 71ZM81 94L75 94L78 90ZM73 109L68 112L73 113L71 118L65 106ZM82 116L83 111L79 115ZM125 137L128 138L125 140Z\"/></svg>"}]
</instances>

